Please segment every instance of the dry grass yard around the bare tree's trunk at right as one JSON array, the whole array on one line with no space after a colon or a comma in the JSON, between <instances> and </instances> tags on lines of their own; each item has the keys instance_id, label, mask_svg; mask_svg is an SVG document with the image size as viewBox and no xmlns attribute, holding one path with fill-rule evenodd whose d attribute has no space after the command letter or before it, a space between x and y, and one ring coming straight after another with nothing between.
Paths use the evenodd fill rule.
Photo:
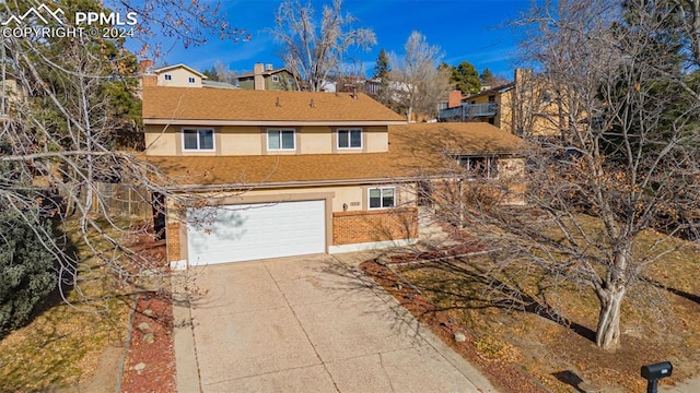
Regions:
<instances>
[{"instance_id":1,"label":"dry grass yard around the bare tree's trunk at right","mask_svg":"<svg viewBox=\"0 0 700 393\"><path fill-rule=\"evenodd\" d=\"M582 216L586 230L598 223ZM644 252L664 236L645 231L635 239ZM487 258L413 265L401 273L433 303L477 337L487 358L523 366L553 392L640 392L642 365L670 360L680 381L700 373L700 250L670 239L672 250L648 266L627 295L622 347L595 346L598 301L594 293L522 265L493 276ZM670 381L669 381L670 380Z\"/></svg>"}]
</instances>

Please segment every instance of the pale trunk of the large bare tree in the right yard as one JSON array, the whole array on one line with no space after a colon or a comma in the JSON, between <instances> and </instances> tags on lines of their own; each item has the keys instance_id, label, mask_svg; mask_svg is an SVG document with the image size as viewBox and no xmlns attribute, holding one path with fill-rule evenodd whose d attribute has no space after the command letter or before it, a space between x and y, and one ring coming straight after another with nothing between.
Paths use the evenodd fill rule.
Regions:
<instances>
[{"instance_id":1,"label":"pale trunk of the large bare tree in the right yard","mask_svg":"<svg viewBox=\"0 0 700 393\"><path fill-rule=\"evenodd\" d=\"M598 290L600 313L595 344L603 349L614 350L620 346L620 306L625 298L625 286L610 286Z\"/></svg>"}]
</instances>

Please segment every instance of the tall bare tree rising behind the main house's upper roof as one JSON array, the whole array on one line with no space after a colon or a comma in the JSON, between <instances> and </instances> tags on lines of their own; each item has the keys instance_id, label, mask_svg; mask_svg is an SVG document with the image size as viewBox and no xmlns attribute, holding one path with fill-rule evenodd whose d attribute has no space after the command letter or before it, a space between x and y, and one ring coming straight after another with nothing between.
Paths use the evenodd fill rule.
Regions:
<instances>
[{"instance_id":1,"label":"tall bare tree rising behind the main house's upper roof","mask_svg":"<svg viewBox=\"0 0 700 393\"><path fill-rule=\"evenodd\" d=\"M332 73L341 73L350 49L366 50L376 43L371 29L352 27L357 19L343 15L341 5L342 0L325 5L320 21L311 3L284 0L278 8L271 33L282 45L284 64L305 85L298 90L320 92Z\"/></svg>"}]
</instances>

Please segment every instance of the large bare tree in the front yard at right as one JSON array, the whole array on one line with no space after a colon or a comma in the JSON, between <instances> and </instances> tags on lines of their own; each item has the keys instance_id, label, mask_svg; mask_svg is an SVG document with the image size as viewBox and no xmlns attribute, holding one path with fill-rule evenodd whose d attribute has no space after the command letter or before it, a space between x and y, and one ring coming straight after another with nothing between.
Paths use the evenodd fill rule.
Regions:
<instances>
[{"instance_id":1,"label":"large bare tree in the front yard at right","mask_svg":"<svg viewBox=\"0 0 700 393\"><path fill-rule=\"evenodd\" d=\"M465 210L443 210L494 250L494 272L536 266L552 285L593 290L595 342L605 349L620 345L628 289L642 288L648 267L673 251L674 235L698 225L699 63L687 67L692 40L678 34L679 14L652 3L560 0L533 9L523 45L552 94L552 110L539 115L560 135L529 141L523 175L466 182ZM527 186L506 187L514 183ZM504 203L518 195L523 206ZM675 225L660 228L660 217ZM650 228L666 235L639 247Z\"/></svg>"}]
</instances>

